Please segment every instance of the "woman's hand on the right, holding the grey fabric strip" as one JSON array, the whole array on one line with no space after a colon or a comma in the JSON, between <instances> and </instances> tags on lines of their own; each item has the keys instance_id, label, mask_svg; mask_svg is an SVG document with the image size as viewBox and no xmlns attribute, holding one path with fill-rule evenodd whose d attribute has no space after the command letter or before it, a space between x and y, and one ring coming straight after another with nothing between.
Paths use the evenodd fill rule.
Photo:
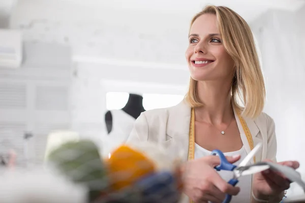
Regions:
<instances>
[{"instance_id":1,"label":"woman's hand on the right, holding the grey fabric strip","mask_svg":"<svg viewBox=\"0 0 305 203\"><path fill-rule=\"evenodd\" d=\"M272 162L271 160L265 161ZM278 162L278 164L286 165L294 169L299 167L299 162L297 161L283 161ZM289 187L290 181L275 171L266 170L253 176L252 191L253 195L258 199L271 200L282 198L280 195Z\"/></svg>"}]
</instances>

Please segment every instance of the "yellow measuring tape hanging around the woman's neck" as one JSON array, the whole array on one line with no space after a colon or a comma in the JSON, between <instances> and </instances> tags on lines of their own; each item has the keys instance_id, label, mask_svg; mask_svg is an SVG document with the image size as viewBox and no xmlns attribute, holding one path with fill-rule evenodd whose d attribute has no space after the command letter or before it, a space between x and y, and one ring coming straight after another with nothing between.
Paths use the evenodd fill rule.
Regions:
<instances>
[{"instance_id":1,"label":"yellow measuring tape hanging around the woman's neck","mask_svg":"<svg viewBox=\"0 0 305 203\"><path fill-rule=\"evenodd\" d=\"M239 121L241 123L242 129L243 129L243 131L245 131L250 149L253 150L254 144L253 144L252 135L251 135L251 132L248 128L248 125L247 125L245 119L243 119L239 113L237 113L237 115L238 115ZM195 110L194 110L194 108L192 108L191 122L190 122L190 133L189 133L189 157L188 157L188 160L193 160L194 156L195 156ZM254 163L255 163L256 162L255 156L253 157L253 160L254 160ZM190 202L193 202L193 201L190 200Z\"/></svg>"}]
</instances>

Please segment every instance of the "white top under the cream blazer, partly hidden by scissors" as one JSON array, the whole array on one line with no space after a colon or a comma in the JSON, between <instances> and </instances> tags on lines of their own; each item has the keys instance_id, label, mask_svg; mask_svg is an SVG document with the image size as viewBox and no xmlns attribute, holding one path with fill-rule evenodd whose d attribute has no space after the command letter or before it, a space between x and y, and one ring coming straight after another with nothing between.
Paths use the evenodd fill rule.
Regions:
<instances>
[{"instance_id":1,"label":"white top under the cream blazer, partly hidden by scissors","mask_svg":"<svg viewBox=\"0 0 305 203\"><path fill-rule=\"evenodd\" d=\"M200 147L195 143L195 159L208 156L211 152ZM241 147L240 150L235 152L227 152L224 153L226 156L234 156L240 154L240 159L236 161L234 164L238 165L243 158L247 156L247 152L245 150L245 147ZM227 182L233 178L233 172L230 171L219 171L219 175L226 180ZM251 201L251 176L242 176L239 179L239 182L236 186L240 187L240 192L236 196L232 196L231 203L240 203L240 202L250 202Z\"/></svg>"}]
</instances>

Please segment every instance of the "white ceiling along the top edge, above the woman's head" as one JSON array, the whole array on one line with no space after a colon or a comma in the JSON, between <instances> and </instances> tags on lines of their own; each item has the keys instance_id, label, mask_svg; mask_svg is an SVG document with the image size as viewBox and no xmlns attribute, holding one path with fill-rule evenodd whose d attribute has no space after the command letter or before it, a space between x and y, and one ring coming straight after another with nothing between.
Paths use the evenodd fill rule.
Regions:
<instances>
[{"instance_id":1,"label":"white ceiling along the top edge, above the woman's head","mask_svg":"<svg viewBox=\"0 0 305 203\"><path fill-rule=\"evenodd\" d=\"M305 5L304 0L1 0L0 9L2 7L8 9L16 1L25 7L35 5L48 10L56 8L59 12L60 10L73 12L74 9L80 8L84 11L100 10L101 13L105 10L140 10L179 15L194 15L205 5L214 4L232 8L247 21L253 20L268 9L295 11ZM83 12L79 13L82 14Z\"/></svg>"}]
</instances>

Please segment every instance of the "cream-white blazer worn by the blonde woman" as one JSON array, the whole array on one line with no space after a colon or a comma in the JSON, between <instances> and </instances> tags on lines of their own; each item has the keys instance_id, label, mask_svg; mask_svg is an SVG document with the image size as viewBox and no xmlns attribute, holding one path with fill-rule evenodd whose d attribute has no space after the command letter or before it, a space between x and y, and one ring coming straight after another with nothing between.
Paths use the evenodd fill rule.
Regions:
<instances>
[{"instance_id":1,"label":"cream-white blazer worn by the blonde woman","mask_svg":"<svg viewBox=\"0 0 305 203\"><path fill-rule=\"evenodd\" d=\"M245 131L234 111L240 138L247 153L251 151ZM275 134L275 123L265 113L261 113L256 119L243 117L251 132L254 146L261 142L261 150L256 154L256 161L271 159L276 161L277 141ZM170 156L177 156L180 153L184 161L188 159L189 151L189 130L191 121L191 107L184 99L178 105L154 109L141 113L136 119L134 128L127 140L127 143L154 142L167 148ZM251 160L253 163L253 159ZM180 202L188 202L188 198L182 197Z\"/></svg>"}]
</instances>

